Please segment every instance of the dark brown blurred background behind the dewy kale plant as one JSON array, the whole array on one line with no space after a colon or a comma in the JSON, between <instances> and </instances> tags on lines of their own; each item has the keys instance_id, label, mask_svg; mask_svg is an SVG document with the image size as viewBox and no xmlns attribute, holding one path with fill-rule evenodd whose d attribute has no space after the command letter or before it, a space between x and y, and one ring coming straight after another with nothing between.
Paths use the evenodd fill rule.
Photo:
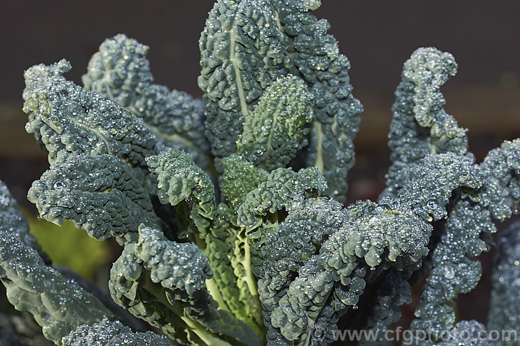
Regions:
<instances>
[{"instance_id":1,"label":"dark brown blurred background behind the dewy kale plant","mask_svg":"<svg viewBox=\"0 0 520 346\"><path fill-rule=\"evenodd\" d=\"M48 163L46 154L24 131L23 71L33 64L65 58L73 66L67 77L80 84L90 56L103 39L125 33L150 46L148 59L156 83L200 97L196 82L200 69L198 37L212 3L2 3L0 179L29 215L35 213L35 208L26 201L26 191ZM459 125L470 129L469 145L478 162L503 140L520 136L519 1L323 0L315 15L329 20L329 32L352 63L354 95L365 107L354 142L357 162L349 176L349 201L374 199L383 188L389 163L386 134L393 93L402 64L420 46L435 46L456 57L458 74L442 89L447 100L445 108ZM45 224L35 228L42 228L41 237L53 238ZM82 242L71 244L85 247L80 245ZM478 289L460 300L461 318L485 322L492 255L483 255L484 279ZM106 257L103 261L110 261L111 256L103 256L94 255L95 259Z\"/></svg>"}]
</instances>

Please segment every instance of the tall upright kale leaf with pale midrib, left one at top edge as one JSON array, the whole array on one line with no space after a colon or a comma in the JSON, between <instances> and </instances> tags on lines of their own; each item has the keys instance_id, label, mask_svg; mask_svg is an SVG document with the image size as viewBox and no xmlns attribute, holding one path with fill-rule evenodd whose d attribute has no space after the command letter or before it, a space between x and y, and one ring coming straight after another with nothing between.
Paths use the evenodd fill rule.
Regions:
<instances>
[{"instance_id":1,"label":"tall upright kale leaf with pale midrib, left one at top edge","mask_svg":"<svg viewBox=\"0 0 520 346\"><path fill-rule=\"evenodd\" d=\"M223 158L236 151L263 91L286 75L288 56L267 0L217 1L199 47L206 134L212 154Z\"/></svg>"}]
</instances>

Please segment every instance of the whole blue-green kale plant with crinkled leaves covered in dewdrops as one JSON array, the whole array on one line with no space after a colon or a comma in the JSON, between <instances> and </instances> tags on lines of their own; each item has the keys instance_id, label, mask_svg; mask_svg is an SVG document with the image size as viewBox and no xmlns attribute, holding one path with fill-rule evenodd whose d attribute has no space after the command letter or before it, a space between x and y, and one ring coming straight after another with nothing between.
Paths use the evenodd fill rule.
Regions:
<instances>
[{"instance_id":1,"label":"whole blue-green kale plant with crinkled leaves covered in dewdrops","mask_svg":"<svg viewBox=\"0 0 520 346\"><path fill-rule=\"evenodd\" d=\"M458 321L456 301L480 279L493 221L520 201L520 140L476 163L440 93L457 64L419 48L395 93L387 187L345 208L362 107L318 6L217 1L199 42L202 100L154 84L148 47L125 35L101 44L83 87L65 60L25 72L26 130L51 165L28 199L123 250L110 300L52 266L1 185L0 280L23 311L6 308L1 326L30 313L57 345L325 345L338 325L388 330L427 276L418 344L485 330ZM520 331L518 228L504 239L504 307L489 324Z\"/></svg>"}]
</instances>

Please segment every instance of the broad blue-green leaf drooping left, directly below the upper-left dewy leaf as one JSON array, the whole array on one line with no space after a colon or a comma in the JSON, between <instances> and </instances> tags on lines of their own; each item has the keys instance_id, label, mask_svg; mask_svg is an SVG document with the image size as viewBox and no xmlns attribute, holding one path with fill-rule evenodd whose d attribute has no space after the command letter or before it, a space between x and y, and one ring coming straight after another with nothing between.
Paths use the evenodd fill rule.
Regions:
<instances>
[{"instance_id":1,"label":"broad blue-green leaf drooping left, directly below the upper-left dewy leaf","mask_svg":"<svg viewBox=\"0 0 520 346\"><path fill-rule=\"evenodd\" d=\"M139 224L162 226L148 192L124 161L111 155L60 152L51 168L28 191L47 221L74 222L98 240L137 241Z\"/></svg>"}]
</instances>

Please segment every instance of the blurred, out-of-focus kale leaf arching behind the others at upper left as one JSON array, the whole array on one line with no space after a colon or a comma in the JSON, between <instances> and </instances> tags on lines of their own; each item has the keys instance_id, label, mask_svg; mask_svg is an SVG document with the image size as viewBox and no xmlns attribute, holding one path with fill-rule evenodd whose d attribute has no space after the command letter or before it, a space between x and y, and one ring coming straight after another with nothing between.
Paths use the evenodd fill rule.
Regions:
<instances>
[{"instance_id":1,"label":"blurred, out-of-focus kale leaf arching behind the others at upper left","mask_svg":"<svg viewBox=\"0 0 520 346\"><path fill-rule=\"evenodd\" d=\"M83 75L85 89L96 90L129 109L162 143L189 152L200 167L207 167L209 142L204 134L202 101L153 84L147 53L148 46L125 35L106 39L92 55L87 74Z\"/></svg>"}]
</instances>

